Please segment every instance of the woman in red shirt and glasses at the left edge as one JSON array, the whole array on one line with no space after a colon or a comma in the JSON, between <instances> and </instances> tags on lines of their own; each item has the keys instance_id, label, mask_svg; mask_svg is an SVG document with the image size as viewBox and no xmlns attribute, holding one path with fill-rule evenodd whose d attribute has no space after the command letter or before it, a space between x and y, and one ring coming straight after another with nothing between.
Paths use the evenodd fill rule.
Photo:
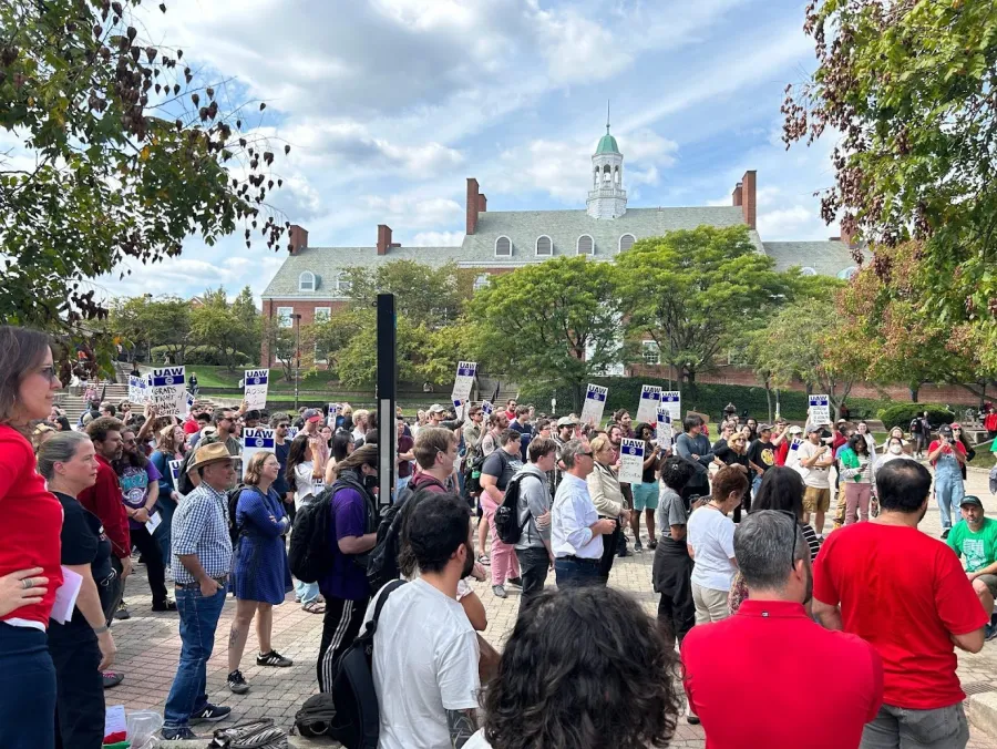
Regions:
<instances>
[{"instance_id":1,"label":"woman in red shirt and glasses at the left edge","mask_svg":"<svg viewBox=\"0 0 997 749\"><path fill-rule=\"evenodd\" d=\"M25 437L32 421L52 411L62 383L49 337L0 326L0 575L41 567L48 586L40 601L0 616L0 747L55 746L55 668L45 629L62 584L62 505L35 472ZM35 577L24 577L30 591Z\"/></svg>"}]
</instances>

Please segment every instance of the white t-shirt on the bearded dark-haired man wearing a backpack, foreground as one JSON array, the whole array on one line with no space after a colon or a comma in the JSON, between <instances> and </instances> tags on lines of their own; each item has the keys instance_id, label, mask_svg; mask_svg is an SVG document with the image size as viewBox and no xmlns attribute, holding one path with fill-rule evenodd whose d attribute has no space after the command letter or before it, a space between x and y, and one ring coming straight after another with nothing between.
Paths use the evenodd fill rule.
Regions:
<instances>
[{"instance_id":1,"label":"white t-shirt on the bearded dark-haired man wearing a backpack, foreground","mask_svg":"<svg viewBox=\"0 0 997 749\"><path fill-rule=\"evenodd\" d=\"M367 607L364 623L380 595ZM454 598L422 578L394 591L373 643L378 749L450 749L446 710L479 707L477 659L477 635Z\"/></svg>"}]
</instances>

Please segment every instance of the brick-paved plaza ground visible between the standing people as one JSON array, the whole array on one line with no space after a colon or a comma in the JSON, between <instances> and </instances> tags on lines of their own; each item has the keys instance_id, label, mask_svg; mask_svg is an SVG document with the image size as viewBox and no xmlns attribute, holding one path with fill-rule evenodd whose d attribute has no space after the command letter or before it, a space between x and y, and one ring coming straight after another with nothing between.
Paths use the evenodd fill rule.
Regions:
<instances>
[{"instance_id":1,"label":"brick-paved plaza ground visible between the standing people","mask_svg":"<svg viewBox=\"0 0 997 749\"><path fill-rule=\"evenodd\" d=\"M983 499L987 513L997 517L997 499L990 496L986 473L974 472L967 492ZM829 514L829 519L832 516ZM926 533L938 536L941 521L936 509L928 512L921 527ZM657 594L650 584L652 556L652 553L645 552L617 560L609 581L614 587L633 593L650 615L657 611ZM137 574L129 579L125 591L132 618L114 624L119 648L114 668L123 671L126 677L121 686L105 694L109 705L124 704L129 710L153 708L162 711L179 655L176 614L153 614L150 611L151 597L144 567L138 566L137 570ZM508 598L503 601L492 595L487 583L475 585L489 614L485 637L501 647L515 622L518 595L510 592ZM268 716L278 725L290 727L295 711L309 695L317 691L315 660L322 617L302 612L300 606L295 605L292 597L289 603L275 607L274 647L292 658L295 665L286 669L256 666L257 640L255 633L250 634L241 669L253 688L248 694L239 696L229 692L225 684L228 671L225 644L234 611L234 601L229 598L218 625L215 656L208 664L209 699L232 706L237 720ZM997 694L997 640L987 643L978 655L959 653L959 677L967 694L978 694L981 697ZM207 729L204 730L207 732ZM976 727L970 728L970 749L987 749L997 745L997 737L987 736ZM681 719L671 746L700 749L703 745L702 730Z\"/></svg>"}]
</instances>

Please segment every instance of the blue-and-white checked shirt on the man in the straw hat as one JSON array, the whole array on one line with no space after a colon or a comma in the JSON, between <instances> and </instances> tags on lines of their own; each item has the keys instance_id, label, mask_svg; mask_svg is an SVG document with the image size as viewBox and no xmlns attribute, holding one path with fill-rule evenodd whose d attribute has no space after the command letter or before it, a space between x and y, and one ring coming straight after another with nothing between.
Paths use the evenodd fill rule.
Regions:
<instances>
[{"instance_id":1,"label":"blue-and-white checked shirt on the man in the straw hat","mask_svg":"<svg viewBox=\"0 0 997 749\"><path fill-rule=\"evenodd\" d=\"M173 578L183 585L195 583L179 561L196 554L209 577L232 572L232 538L228 535L228 496L202 481L184 497L173 515Z\"/></svg>"}]
</instances>

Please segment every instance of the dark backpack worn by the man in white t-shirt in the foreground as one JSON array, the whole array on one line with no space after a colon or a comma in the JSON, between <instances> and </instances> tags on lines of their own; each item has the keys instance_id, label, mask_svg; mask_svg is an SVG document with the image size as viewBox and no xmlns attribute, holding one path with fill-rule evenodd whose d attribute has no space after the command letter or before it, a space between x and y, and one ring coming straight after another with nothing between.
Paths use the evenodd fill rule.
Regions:
<instances>
[{"instance_id":1,"label":"dark backpack worn by the man in white t-shirt in the foreground","mask_svg":"<svg viewBox=\"0 0 997 749\"><path fill-rule=\"evenodd\" d=\"M384 602L392 592L404 585L393 579L378 596L373 617L339 659L332 677L332 701L336 705L338 728L329 731L346 749L377 749L381 728L378 692L373 683L373 638Z\"/></svg>"}]
</instances>

